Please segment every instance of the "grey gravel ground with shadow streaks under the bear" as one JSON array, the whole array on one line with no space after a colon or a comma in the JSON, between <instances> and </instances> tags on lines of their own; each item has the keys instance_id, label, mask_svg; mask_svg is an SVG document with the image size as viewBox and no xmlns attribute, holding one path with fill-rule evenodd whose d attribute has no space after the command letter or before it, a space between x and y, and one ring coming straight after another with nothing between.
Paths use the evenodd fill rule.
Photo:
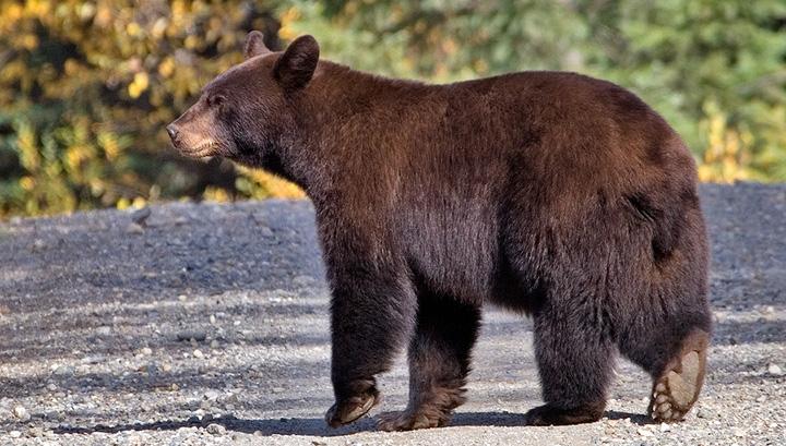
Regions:
<instances>
[{"instance_id":1,"label":"grey gravel ground with shadow streaks under the bear","mask_svg":"<svg viewBox=\"0 0 786 446\"><path fill-rule=\"evenodd\" d=\"M0 444L784 445L786 185L702 186L713 238L711 371L677 425L647 422L621 361L606 417L522 426L539 403L531 322L488 309L450 427L337 431L322 415L327 292L307 202L152 207L0 224ZM657 327L653 327L657 329ZM381 378L403 408L403 358Z\"/></svg>"}]
</instances>

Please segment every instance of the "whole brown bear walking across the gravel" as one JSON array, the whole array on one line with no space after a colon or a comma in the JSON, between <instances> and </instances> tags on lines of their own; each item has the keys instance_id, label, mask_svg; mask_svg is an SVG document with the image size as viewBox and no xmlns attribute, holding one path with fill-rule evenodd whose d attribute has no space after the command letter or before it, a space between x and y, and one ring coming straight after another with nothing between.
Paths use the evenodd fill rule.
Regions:
<instances>
[{"instance_id":1,"label":"whole brown bear walking across the gravel","mask_svg":"<svg viewBox=\"0 0 786 446\"><path fill-rule=\"evenodd\" d=\"M465 401L481 309L534 324L544 405L528 425L603 417L617 352L652 376L650 415L677 422L711 337L696 167L653 109L610 82L532 71L432 85L321 60L301 36L210 82L167 126L313 202L331 294L325 420L380 402L408 348L409 399L378 426L444 426Z\"/></svg>"}]
</instances>

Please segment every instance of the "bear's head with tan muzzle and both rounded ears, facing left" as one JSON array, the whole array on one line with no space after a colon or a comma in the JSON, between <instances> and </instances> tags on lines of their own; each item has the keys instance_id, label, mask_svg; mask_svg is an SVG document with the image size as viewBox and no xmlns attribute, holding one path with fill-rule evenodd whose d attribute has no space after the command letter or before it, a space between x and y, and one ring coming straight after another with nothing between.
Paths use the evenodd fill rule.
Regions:
<instances>
[{"instance_id":1,"label":"bear's head with tan muzzle and both rounded ears, facing left","mask_svg":"<svg viewBox=\"0 0 786 446\"><path fill-rule=\"evenodd\" d=\"M297 131L293 98L307 87L319 61L311 36L274 52L253 31L246 40L246 60L218 75L196 103L167 125L172 145L183 155L223 156L265 167Z\"/></svg>"}]
</instances>

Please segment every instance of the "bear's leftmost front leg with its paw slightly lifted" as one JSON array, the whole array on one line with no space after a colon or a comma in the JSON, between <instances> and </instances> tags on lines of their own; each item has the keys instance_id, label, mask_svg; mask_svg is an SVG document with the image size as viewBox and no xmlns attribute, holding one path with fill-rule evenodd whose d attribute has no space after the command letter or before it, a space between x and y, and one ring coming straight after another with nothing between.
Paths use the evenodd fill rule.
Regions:
<instances>
[{"instance_id":1,"label":"bear's leftmost front leg with its paw slightly lifted","mask_svg":"<svg viewBox=\"0 0 786 446\"><path fill-rule=\"evenodd\" d=\"M404 268L358 266L330 273L335 403L325 421L332 427L352 423L380 401L374 375L391 367L415 320L417 302Z\"/></svg>"}]
</instances>

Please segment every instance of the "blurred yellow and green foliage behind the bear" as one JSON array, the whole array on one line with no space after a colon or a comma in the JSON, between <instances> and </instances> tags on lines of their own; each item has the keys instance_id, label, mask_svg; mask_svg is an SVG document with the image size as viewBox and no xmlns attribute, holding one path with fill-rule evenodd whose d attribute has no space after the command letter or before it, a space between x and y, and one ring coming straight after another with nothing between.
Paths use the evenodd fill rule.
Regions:
<instances>
[{"instance_id":1,"label":"blurred yellow and green foliage behind the bear","mask_svg":"<svg viewBox=\"0 0 786 446\"><path fill-rule=\"evenodd\" d=\"M0 0L0 218L296 188L169 148L164 124L238 62L313 34L325 58L448 82L571 70L633 89L705 181L786 180L786 1Z\"/></svg>"}]
</instances>

